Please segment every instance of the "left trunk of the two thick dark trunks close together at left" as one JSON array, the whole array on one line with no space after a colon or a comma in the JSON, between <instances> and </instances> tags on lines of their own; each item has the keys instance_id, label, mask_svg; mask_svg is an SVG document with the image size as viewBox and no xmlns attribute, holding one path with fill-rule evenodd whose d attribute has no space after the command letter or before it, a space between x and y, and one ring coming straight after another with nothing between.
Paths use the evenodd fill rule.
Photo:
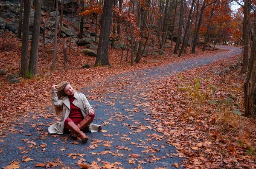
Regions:
<instances>
[{"instance_id":1,"label":"left trunk of the two thick dark trunks close together at left","mask_svg":"<svg viewBox=\"0 0 256 169\"><path fill-rule=\"evenodd\" d=\"M31 0L24 0L24 17L23 17L23 31L22 31L22 46L21 46L21 67L20 76L26 77L29 69L29 18Z\"/></svg>"}]
</instances>

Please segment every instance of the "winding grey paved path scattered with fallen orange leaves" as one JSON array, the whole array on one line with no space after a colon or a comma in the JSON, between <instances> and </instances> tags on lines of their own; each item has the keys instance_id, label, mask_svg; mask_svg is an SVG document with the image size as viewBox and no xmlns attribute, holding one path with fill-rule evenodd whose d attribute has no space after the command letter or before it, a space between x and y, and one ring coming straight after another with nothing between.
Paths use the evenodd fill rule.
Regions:
<instances>
[{"instance_id":1,"label":"winding grey paved path scattered with fallen orange leaves","mask_svg":"<svg viewBox=\"0 0 256 169\"><path fill-rule=\"evenodd\" d=\"M157 85L150 83L154 79L163 79L165 76L241 53L240 48L219 48L230 51L204 59L190 59L112 76L96 87L80 90L96 109L94 123L103 124L104 129L104 132L87 133L90 140L86 144L81 141L78 141L79 144L71 144L74 140L68 134L48 135L48 125L57 119L50 113L44 117L29 115L29 118L15 124L11 132L0 135L0 167L8 166L11 161L18 161L22 169L32 169L35 164L47 162L50 165L58 164L52 168L71 169L79 168L76 162L83 158L86 163L95 161L99 166L103 166L102 161L119 162L122 165L117 163L116 166L125 169L136 168L139 164L144 169L175 168L172 163L179 163L181 158L172 156L172 153L176 153L175 148L167 144L164 137L151 127L145 92ZM140 156L134 157L131 154ZM27 158L32 160L22 161Z\"/></svg>"}]
</instances>

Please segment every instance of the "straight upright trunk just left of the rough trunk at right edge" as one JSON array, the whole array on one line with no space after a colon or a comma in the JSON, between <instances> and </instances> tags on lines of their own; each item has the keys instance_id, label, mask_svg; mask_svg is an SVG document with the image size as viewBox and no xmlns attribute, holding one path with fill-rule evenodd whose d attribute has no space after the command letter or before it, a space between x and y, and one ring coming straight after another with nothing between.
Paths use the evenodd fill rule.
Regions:
<instances>
[{"instance_id":1,"label":"straight upright trunk just left of the rough trunk at right edge","mask_svg":"<svg viewBox=\"0 0 256 169\"><path fill-rule=\"evenodd\" d=\"M244 0L244 22L243 22L243 65L241 73L245 73L248 66L248 52L249 52L249 37L248 37L248 0Z\"/></svg>"}]
</instances>

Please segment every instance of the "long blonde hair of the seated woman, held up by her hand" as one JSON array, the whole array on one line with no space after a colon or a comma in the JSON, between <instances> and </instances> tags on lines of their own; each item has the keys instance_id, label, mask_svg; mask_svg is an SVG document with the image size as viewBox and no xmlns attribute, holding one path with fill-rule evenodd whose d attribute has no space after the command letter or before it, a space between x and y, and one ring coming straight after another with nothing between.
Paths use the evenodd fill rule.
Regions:
<instances>
[{"instance_id":1,"label":"long blonde hair of the seated woman, held up by her hand","mask_svg":"<svg viewBox=\"0 0 256 169\"><path fill-rule=\"evenodd\" d=\"M56 86L55 88L58 90L57 91L57 96L58 96L58 99L62 99L63 97L67 96L64 92L64 88L67 86L67 85L70 85L69 82L61 82L60 84L58 84L58 86ZM71 85L70 85L71 86ZM74 92L76 92L75 89L73 89ZM52 92L50 93L50 99L51 99L51 103L52 103L52 106L53 106L53 102L52 102ZM55 110L55 113L56 115L60 115L61 111L62 111L62 108L63 108L63 105L61 107L55 107L54 106L54 110Z\"/></svg>"}]
</instances>

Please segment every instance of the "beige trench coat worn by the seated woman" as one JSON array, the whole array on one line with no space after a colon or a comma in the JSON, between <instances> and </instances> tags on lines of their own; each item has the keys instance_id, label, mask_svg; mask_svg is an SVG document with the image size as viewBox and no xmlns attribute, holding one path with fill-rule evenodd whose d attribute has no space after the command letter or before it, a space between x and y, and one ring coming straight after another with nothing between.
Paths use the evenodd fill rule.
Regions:
<instances>
[{"instance_id":1,"label":"beige trench coat worn by the seated woman","mask_svg":"<svg viewBox=\"0 0 256 169\"><path fill-rule=\"evenodd\" d=\"M93 109L93 107L90 106L89 102L87 101L87 99L83 93L75 92L74 98L75 98L75 100L73 101L73 104L76 107L79 107L81 109L81 112L82 112L83 116L85 117L87 115L87 112L90 109ZM62 113L61 113L61 122L55 123L55 124L51 125L50 127L48 127L48 132L50 134L63 134L64 121L68 118L68 116L70 114L70 101L67 96L62 99L58 99L57 89L54 89L54 90L52 90L52 102L53 102L53 105L56 107L61 107L61 106L63 106L63 107L62 107ZM99 131L99 125L90 124L89 131L90 132Z\"/></svg>"}]
</instances>

